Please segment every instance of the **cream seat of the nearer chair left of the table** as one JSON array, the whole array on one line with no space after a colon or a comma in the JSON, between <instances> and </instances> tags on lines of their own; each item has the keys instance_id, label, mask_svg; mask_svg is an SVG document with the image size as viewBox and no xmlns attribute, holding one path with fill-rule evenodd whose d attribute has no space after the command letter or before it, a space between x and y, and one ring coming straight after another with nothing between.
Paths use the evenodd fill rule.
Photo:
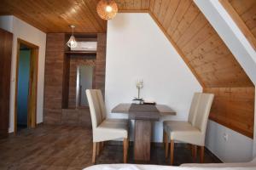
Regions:
<instances>
[{"instance_id":1,"label":"cream seat of the nearer chair left of the table","mask_svg":"<svg viewBox=\"0 0 256 170\"><path fill-rule=\"evenodd\" d=\"M93 131L93 141L102 142L113 139L126 139L128 137L128 124L124 122L103 121Z\"/></svg>"}]
</instances>

